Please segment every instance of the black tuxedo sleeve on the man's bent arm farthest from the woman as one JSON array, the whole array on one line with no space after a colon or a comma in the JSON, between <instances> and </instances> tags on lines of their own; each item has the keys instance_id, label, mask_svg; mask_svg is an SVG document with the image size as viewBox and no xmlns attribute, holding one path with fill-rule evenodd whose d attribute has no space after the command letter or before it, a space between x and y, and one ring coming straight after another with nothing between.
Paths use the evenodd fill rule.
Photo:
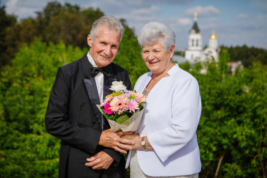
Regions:
<instances>
[{"instance_id":1,"label":"black tuxedo sleeve on the man's bent arm farthest from the woman","mask_svg":"<svg viewBox=\"0 0 267 178\"><path fill-rule=\"evenodd\" d=\"M67 76L64 69L60 67L48 101L45 115L46 131L58 139L95 154L102 131L82 123L70 122L71 80L69 78L70 76Z\"/></svg>"}]
</instances>

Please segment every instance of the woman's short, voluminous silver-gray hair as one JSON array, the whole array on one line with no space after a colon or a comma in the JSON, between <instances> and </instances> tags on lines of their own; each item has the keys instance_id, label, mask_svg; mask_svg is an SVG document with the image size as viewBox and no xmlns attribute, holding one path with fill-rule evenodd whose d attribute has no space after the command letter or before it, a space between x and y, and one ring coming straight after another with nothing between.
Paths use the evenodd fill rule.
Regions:
<instances>
[{"instance_id":1,"label":"woman's short, voluminous silver-gray hair","mask_svg":"<svg viewBox=\"0 0 267 178\"><path fill-rule=\"evenodd\" d=\"M137 41L143 49L145 45L153 45L159 38L163 39L161 45L168 52L171 46L175 45L174 31L167 25L159 22L147 23L139 32Z\"/></svg>"}]
</instances>

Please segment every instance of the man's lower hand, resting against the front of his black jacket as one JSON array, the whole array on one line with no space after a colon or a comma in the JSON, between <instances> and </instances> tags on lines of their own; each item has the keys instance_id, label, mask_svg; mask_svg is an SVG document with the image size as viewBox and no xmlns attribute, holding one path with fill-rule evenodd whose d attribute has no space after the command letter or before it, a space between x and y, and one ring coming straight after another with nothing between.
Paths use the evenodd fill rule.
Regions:
<instances>
[{"instance_id":1,"label":"man's lower hand, resting against the front of his black jacket","mask_svg":"<svg viewBox=\"0 0 267 178\"><path fill-rule=\"evenodd\" d=\"M91 158L87 158L86 160L88 163L85 163L85 166L91 166L92 169L108 169L114 161L111 156L103 151L97 152Z\"/></svg>"}]
</instances>

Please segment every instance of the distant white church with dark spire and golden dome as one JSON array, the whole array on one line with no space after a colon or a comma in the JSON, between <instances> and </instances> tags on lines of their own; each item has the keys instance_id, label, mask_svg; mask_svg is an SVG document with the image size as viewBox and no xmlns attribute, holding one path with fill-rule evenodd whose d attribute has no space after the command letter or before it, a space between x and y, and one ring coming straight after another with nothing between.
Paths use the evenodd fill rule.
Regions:
<instances>
[{"instance_id":1,"label":"distant white church with dark spire and golden dome","mask_svg":"<svg viewBox=\"0 0 267 178\"><path fill-rule=\"evenodd\" d=\"M194 25L189 31L188 36L188 48L185 50L185 59L194 62L203 62L211 60L212 58L218 62L219 50L217 37L212 31L212 35L209 38L209 46L203 49L202 46L202 32L197 25L197 13L194 13Z\"/></svg>"}]
</instances>

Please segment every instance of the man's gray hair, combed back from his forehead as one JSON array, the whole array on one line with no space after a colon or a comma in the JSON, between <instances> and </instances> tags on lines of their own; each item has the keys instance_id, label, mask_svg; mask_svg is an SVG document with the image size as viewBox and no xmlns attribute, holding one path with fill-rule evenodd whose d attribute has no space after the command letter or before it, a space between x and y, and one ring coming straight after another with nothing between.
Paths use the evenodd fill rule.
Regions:
<instances>
[{"instance_id":1,"label":"man's gray hair, combed back from his forehead","mask_svg":"<svg viewBox=\"0 0 267 178\"><path fill-rule=\"evenodd\" d=\"M105 26L109 30L117 31L121 42L124 33L123 24L113 15L104 15L94 22L93 27L90 31L90 35L92 37L92 44L95 42L96 36L98 35L98 31L101 26Z\"/></svg>"}]
</instances>

